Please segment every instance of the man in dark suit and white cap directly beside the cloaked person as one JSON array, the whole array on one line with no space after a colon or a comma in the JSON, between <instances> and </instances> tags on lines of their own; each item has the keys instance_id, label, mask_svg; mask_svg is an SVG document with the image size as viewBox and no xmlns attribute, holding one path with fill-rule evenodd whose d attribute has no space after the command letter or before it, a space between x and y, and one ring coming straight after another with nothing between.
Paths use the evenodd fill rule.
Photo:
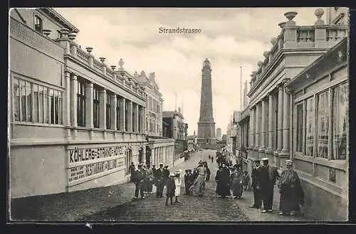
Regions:
<instances>
[{"instance_id":1,"label":"man in dark suit and white cap directly beside the cloaked person","mask_svg":"<svg viewBox=\"0 0 356 234\"><path fill-rule=\"evenodd\" d=\"M263 158L261 161L263 163L260 176L261 195L263 201L262 213L267 213L273 211L273 190L276 185L276 180L279 179L279 174L276 166L268 164L268 158Z\"/></svg>"}]
</instances>

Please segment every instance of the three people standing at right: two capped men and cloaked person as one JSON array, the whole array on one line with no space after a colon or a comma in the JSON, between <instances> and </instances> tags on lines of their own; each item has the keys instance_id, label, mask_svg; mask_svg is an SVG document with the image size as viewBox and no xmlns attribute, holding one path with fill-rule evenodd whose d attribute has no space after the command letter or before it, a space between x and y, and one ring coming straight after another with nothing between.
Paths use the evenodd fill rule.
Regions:
<instances>
[{"instance_id":1,"label":"three people standing at right: two capped men and cloaked person","mask_svg":"<svg viewBox=\"0 0 356 234\"><path fill-rule=\"evenodd\" d=\"M268 164L268 158L263 158L261 161L255 160L255 166L251 173L254 198L251 208L261 209L263 205L262 213L272 212L273 191L277 184L281 193L279 214L295 215L298 213L300 206L304 205L304 193L298 174L293 171L293 161L286 160L286 170L281 175L278 174L276 166Z\"/></svg>"}]
</instances>

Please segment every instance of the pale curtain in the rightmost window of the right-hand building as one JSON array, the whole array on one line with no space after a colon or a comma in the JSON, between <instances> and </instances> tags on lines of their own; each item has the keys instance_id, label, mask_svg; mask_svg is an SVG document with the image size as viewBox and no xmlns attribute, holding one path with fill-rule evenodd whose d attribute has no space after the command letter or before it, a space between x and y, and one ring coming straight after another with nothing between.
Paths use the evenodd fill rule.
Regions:
<instances>
[{"instance_id":1,"label":"pale curtain in the rightmost window of the right-hand building","mask_svg":"<svg viewBox=\"0 0 356 234\"><path fill-rule=\"evenodd\" d=\"M333 90L333 156L346 159L348 139L348 83Z\"/></svg>"}]
</instances>

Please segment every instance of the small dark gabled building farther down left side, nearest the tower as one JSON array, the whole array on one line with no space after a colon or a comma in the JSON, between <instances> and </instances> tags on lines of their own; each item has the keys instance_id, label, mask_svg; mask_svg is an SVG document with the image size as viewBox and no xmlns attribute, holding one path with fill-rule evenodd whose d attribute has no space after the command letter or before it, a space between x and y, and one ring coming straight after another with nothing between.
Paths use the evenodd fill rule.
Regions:
<instances>
[{"instance_id":1,"label":"small dark gabled building farther down left side, nearest the tower","mask_svg":"<svg viewBox=\"0 0 356 234\"><path fill-rule=\"evenodd\" d=\"M167 123L165 136L174 139L174 161L188 153L188 124L184 123L181 109L178 111L164 111L163 121Z\"/></svg>"}]
</instances>

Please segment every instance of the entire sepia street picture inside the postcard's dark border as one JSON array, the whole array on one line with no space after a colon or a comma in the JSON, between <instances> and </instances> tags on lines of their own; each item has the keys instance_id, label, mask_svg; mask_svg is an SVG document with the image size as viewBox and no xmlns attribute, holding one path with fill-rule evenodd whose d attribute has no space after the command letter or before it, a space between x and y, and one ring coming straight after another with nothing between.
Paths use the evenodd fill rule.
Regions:
<instances>
[{"instance_id":1,"label":"entire sepia street picture inside the postcard's dark border","mask_svg":"<svg viewBox=\"0 0 356 234\"><path fill-rule=\"evenodd\" d=\"M9 11L9 222L344 222L349 9Z\"/></svg>"}]
</instances>

